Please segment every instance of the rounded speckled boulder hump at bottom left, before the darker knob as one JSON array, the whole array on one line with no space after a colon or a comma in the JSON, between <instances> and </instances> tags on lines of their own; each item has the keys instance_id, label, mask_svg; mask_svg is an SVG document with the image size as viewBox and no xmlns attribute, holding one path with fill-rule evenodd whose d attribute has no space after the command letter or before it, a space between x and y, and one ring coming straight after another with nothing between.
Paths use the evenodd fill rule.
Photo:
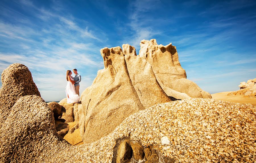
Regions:
<instances>
[{"instance_id":1,"label":"rounded speckled boulder hump at bottom left, before the darker knob","mask_svg":"<svg viewBox=\"0 0 256 163\"><path fill-rule=\"evenodd\" d=\"M56 133L53 113L45 101L37 95L22 96L0 129L0 160L48 162L44 161L47 160L46 155L56 155L60 142L68 147Z\"/></svg>"}]
</instances>

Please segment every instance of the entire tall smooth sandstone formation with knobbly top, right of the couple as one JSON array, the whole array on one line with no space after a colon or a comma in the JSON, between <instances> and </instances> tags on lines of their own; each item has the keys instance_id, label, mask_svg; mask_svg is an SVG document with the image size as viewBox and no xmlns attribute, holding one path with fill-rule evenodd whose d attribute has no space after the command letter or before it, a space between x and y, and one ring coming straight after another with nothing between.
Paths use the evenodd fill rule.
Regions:
<instances>
[{"instance_id":1,"label":"entire tall smooth sandstone formation with knobbly top, right of the couple","mask_svg":"<svg viewBox=\"0 0 256 163\"><path fill-rule=\"evenodd\" d=\"M83 91L76 113L69 111L70 118L64 118L70 119L68 122L79 119L76 128L79 125L84 143L106 136L126 117L154 104L170 99L211 98L186 79L175 46L142 40L139 56L129 44L123 44L122 48L101 49L104 69L98 71L92 85ZM66 105L65 99L60 103Z\"/></svg>"}]
</instances>

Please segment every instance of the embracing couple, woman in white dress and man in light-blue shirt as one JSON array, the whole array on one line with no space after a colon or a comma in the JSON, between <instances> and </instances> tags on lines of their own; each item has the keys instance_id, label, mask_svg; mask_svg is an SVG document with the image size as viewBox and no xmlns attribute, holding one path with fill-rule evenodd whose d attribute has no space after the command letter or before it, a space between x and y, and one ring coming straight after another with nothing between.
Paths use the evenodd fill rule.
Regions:
<instances>
[{"instance_id":1,"label":"embracing couple, woman in white dress and man in light-blue shirt","mask_svg":"<svg viewBox=\"0 0 256 163\"><path fill-rule=\"evenodd\" d=\"M79 82L81 81L81 75L77 73L77 69L73 70L74 76L72 75L71 70L67 70L67 87L66 87L66 96L67 103L77 103L80 100L79 96Z\"/></svg>"}]
</instances>

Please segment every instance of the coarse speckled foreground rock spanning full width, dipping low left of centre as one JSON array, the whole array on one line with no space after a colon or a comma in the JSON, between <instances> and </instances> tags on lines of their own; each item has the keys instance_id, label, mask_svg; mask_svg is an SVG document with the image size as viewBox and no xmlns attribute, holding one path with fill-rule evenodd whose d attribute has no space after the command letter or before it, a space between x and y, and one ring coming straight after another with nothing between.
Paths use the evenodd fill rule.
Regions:
<instances>
[{"instance_id":1,"label":"coarse speckled foreground rock spanning full width, dipping low left of centre","mask_svg":"<svg viewBox=\"0 0 256 163\"><path fill-rule=\"evenodd\" d=\"M0 129L0 160L255 162L255 110L250 104L214 99L177 100L130 115L98 141L72 146L58 137L53 113L44 100L24 96Z\"/></svg>"}]
</instances>

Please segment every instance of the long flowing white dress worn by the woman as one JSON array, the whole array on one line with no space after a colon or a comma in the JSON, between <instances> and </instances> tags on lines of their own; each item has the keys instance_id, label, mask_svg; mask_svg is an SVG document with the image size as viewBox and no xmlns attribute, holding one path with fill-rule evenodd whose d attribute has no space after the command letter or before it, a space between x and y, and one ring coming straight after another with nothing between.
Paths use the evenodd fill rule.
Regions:
<instances>
[{"instance_id":1,"label":"long flowing white dress worn by the woman","mask_svg":"<svg viewBox=\"0 0 256 163\"><path fill-rule=\"evenodd\" d=\"M74 81L72 76L70 76L70 78L71 80ZM77 103L80 100L80 96L76 94L75 85L72 84L70 81L68 81L67 83L66 96L67 96L67 103Z\"/></svg>"}]
</instances>

